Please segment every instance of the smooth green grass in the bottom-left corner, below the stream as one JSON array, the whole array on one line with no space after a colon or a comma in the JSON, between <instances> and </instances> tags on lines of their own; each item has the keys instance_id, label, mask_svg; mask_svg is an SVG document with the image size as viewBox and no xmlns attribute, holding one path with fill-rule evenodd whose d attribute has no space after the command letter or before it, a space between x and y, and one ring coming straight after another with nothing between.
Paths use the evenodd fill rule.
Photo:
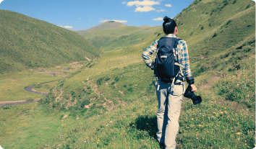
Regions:
<instances>
[{"instance_id":1,"label":"smooth green grass in the bottom-left corner, below the stream","mask_svg":"<svg viewBox=\"0 0 256 149\"><path fill-rule=\"evenodd\" d=\"M67 131L63 122L74 125L72 119L61 121L62 113L46 114L38 104L0 107L0 113L2 148L36 148Z\"/></svg>"}]
</instances>

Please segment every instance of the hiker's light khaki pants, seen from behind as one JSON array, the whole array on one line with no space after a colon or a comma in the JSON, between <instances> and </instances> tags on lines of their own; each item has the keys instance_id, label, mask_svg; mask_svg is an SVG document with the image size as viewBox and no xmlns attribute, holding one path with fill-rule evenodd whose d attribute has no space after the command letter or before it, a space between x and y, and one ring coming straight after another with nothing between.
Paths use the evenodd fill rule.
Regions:
<instances>
[{"instance_id":1,"label":"hiker's light khaki pants, seen from behind","mask_svg":"<svg viewBox=\"0 0 256 149\"><path fill-rule=\"evenodd\" d=\"M184 85L175 83L171 91L171 84L160 83L156 91L158 96L158 132L156 133L158 142L164 143L166 149L176 148L175 138L179 132L179 114L182 105L182 95Z\"/></svg>"}]
</instances>

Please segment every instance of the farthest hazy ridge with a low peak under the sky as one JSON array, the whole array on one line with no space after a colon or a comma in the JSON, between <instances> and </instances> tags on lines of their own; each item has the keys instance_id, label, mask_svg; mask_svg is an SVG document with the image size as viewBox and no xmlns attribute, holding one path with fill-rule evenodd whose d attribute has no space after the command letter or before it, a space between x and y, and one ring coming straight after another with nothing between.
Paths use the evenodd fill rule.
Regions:
<instances>
[{"instance_id":1,"label":"farthest hazy ridge with a low peak under the sky","mask_svg":"<svg viewBox=\"0 0 256 149\"><path fill-rule=\"evenodd\" d=\"M115 29L115 28L118 28L118 27L126 27L126 26L127 26L126 24L122 24L120 22L108 21L108 22L104 22L102 24L99 24L95 27L91 27L88 30L72 30L72 31L77 32L77 34L82 36L84 34L87 34L88 32L93 32L95 30Z\"/></svg>"}]
</instances>

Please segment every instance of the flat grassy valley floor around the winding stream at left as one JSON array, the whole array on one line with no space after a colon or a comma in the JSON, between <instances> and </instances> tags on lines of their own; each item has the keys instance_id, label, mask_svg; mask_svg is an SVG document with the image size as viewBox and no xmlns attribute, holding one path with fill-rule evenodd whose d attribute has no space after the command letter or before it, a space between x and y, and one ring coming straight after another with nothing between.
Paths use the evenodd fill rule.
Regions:
<instances>
[{"instance_id":1,"label":"flat grassy valley floor around the winding stream at left","mask_svg":"<svg viewBox=\"0 0 256 149\"><path fill-rule=\"evenodd\" d=\"M6 73L0 75L0 101L18 101L26 99L37 99L43 98L41 94L34 94L25 91L27 86L35 86L33 89L40 92L49 92L59 80L69 73L74 73L82 66L84 66L87 61L77 62L76 66L72 64L63 64L54 68L37 68L30 69L29 71L21 71L18 73ZM65 69L67 68L67 70ZM47 71L48 73L38 72ZM56 73L52 76L51 73ZM59 72L59 73L58 73ZM65 74L68 73L68 74ZM45 84L40 84L45 83Z\"/></svg>"}]
</instances>

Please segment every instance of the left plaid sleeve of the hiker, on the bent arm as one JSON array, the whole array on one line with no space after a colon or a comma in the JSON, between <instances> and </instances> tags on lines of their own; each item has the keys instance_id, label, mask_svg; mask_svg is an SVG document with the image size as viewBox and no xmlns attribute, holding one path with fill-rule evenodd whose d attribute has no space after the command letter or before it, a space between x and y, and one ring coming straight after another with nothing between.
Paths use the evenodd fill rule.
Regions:
<instances>
[{"instance_id":1,"label":"left plaid sleeve of the hiker, on the bent arm","mask_svg":"<svg viewBox=\"0 0 256 149\"><path fill-rule=\"evenodd\" d=\"M153 55L153 53L156 52L156 49L158 47L158 40L155 40L150 47L146 48L145 51L142 53L142 58L145 62L145 64L148 67L152 67L153 60L151 60L150 55Z\"/></svg>"}]
</instances>

